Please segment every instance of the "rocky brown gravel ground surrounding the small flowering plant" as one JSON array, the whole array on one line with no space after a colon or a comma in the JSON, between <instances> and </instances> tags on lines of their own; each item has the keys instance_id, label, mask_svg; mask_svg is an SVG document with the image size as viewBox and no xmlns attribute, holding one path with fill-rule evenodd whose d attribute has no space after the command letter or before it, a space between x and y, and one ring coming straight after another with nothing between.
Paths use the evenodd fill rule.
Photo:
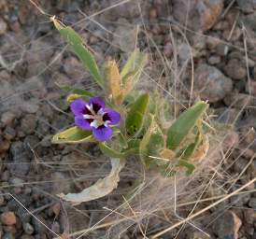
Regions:
<instances>
[{"instance_id":1,"label":"rocky brown gravel ground surrounding the small flowering plant","mask_svg":"<svg viewBox=\"0 0 256 239\"><path fill-rule=\"evenodd\" d=\"M177 88L190 95L193 73L193 97L208 100L218 120L235 125L227 142L235 148L222 165L222 179L229 180L220 193L256 176L255 1L130 1L111 9L121 1L35 2L45 13L73 24L98 62L105 57L122 62L135 49L140 26L137 44L149 51L149 68L156 69L153 73L164 87L171 89L176 59L182 78ZM163 59L170 75L161 73ZM93 87L77 58L64 51L46 15L26 0L0 0L0 238L44 239L82 230L101 218L106 205L99 200L76 208L55 196L90 185L101 155L94 146L50 144L52 134L72 124L66 92L54 82ZM106 168L101 170L102 175L107 173ZM201 228L211 238L256 238L255 185L247 190L252 192L231 198L206 215L211 220ZM114 208L114 201L109 199L107 205ZM105 232L83 238L104 238ZM121 238L146 237L132 230ZM189 227L178 238L207 237Z\"/></svg>"}]
</instances>

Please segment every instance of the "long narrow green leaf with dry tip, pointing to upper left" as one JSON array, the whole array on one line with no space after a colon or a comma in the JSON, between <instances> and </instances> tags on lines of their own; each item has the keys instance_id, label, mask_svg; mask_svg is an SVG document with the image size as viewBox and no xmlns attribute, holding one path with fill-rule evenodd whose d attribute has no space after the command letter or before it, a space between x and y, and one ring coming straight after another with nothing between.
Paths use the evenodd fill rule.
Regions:
<instances>
[{"instance_id":1,"label":"long narrow green leaf with dry tip, pointing to upper left","mask_svg":"<svg viewBox=\"0 0 256 239\"><path fill-rule=\"evenodd\" d=\"M57 21L56 19L52 19L52 21L68 43L69 47L76 53L83 66L90 71L95 82L104 89L103 78L100 74L97 63L95 62L92 53L85 47L80 35L78 35L78 33L76 33L71 27L65 26L61 21Z\"/></svg>"}]
</instances>

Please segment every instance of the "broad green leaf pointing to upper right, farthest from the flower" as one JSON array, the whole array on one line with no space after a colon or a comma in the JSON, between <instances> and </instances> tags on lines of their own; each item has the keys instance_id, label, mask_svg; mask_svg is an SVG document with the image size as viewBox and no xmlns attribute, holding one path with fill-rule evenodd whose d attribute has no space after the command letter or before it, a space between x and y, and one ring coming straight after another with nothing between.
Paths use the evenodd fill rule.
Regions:
<instances>
[{"instance_id":1,"label":"broad green leaf pointing to upper right, farthest from the flower","mask_svg":"<svg viewBox=\"0 0 256 239\"><path fill-rule=\"evenodd\" d=\"M176 150L183 139L192 131L198 119L206 112L206 102L200 101L185 110L167 131L167 148Z\"/></svg>"}]
</instances>

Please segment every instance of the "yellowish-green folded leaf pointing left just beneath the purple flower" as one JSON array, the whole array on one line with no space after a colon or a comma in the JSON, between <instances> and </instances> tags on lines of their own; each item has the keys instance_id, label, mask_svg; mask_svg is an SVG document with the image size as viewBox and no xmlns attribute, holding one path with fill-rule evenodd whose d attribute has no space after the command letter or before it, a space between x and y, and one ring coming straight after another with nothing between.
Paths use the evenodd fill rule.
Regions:
<instances>
[{"instance_id":1,"label":"yellowish-green folded leaf pointing left just beneath the purple flower","mask_svg":"<svg viewBox=\"0 0 256 239\"><path fill-rule=\"evenodd\" d=\"M78 144L85 142L95 142L92 136L92 132L84 131L77 126L55 134L51 139L52 144Z\"/></svg>"}]
</instances>

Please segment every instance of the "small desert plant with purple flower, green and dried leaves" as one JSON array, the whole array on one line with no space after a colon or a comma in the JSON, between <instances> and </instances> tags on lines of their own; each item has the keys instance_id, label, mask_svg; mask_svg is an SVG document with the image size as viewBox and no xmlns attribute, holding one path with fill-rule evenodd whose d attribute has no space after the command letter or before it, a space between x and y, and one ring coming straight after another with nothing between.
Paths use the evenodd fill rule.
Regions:
<instances>
[{"instance_id":1,"label":"small desert plant with purple flower, green and dried leaves","mask_svg":"<svg viewBox=\"0 0 256 239\"><path fill-rule=\"evenodd\" d=\"M107 195L117 188L119 173L132 155L145 168L165 177L192 175L208 148L203 121L206 102L198 101L173 119L170 106L159 93L135 89L147 64L146 53L135 50L121 72L115 61L107 61L100 70L82 38L61 21L51 20L101 88L96 92L65 87L72 92L67 102L76 126L55 134L52 143L94 142L112 165L110 174L92 187L60 196L79 204Z\"/></svg>"}]
</instances>

